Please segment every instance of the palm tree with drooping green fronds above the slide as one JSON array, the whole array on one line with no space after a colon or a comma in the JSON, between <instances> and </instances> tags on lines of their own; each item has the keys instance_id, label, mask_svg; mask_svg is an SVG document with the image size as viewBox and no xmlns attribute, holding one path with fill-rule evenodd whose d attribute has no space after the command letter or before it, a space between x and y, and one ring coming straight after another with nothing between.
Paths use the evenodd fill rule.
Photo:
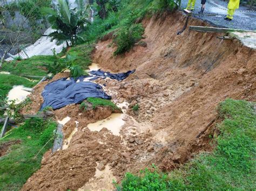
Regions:
<instances>
[{"instance_id":1,"label":"palm tree with drooping green fronds above the slide","mask_svg":"<svg viewBox=\"0 0 256 191\"><path fill-rule=\"evenodd\" d=\"M58 0L55 9L43 9L52 29L56 30L49 34L51 40L56 39L58 45L66 42L67 47L69 43L71 46L76 43L77 34L88 23L84 0L76 0L76 8L71 9L70 5L69 0Z\"/></svg>"}]
</instances>

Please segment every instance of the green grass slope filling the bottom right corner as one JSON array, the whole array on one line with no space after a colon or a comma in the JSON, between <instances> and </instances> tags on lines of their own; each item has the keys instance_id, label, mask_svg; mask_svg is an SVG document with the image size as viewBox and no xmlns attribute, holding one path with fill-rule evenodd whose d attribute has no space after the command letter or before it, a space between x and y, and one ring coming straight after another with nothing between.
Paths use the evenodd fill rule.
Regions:
<instances>
[{"instance_id":1,"label":"green grass slope filling the bottom right corner","mask_svg":"<svg viewBox=\"0 0 256 191\"><path fill-rule=\"evenodd\" d=\"M201 153L169 174L142 171L127 173L120 190L255 190L255 103L228 99L221 102L220 135L212 153Z\"/></svg>"}]
</instances>

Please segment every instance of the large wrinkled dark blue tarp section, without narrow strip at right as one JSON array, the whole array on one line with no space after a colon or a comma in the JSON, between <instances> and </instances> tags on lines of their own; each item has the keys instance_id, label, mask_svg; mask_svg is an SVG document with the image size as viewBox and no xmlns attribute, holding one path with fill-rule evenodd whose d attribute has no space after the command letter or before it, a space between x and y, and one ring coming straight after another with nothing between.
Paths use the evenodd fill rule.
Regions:
<instances>
[{"instance_id":1,"label":"large wrinkled dark blue tarp section, without narrow strip at right","mask_svg":"<svg viewBox=\"0 0 256 191\"><path fill-rule=\"evenodd\" d=\"M103 88L93 82L77 82L75 80L60 79L45 86L42 93L44 103L41 110L49 106L59 109L72 103L81 103L88 97L98 97L111 100Z\"/></svg>"}]
</instances>

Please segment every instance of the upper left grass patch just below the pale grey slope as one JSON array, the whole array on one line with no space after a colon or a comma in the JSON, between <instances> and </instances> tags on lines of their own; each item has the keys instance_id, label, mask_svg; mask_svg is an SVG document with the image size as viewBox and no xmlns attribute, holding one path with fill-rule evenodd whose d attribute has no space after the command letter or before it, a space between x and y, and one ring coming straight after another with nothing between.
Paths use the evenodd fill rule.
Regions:
<instances>
[{"instance_id":1,"label":"upper left grass patch just below the pale grey slope","mask_svg":"<svg viewBox=\"0 0 256 191\"><path fill-rule=\"evenodd\" d=\"M54 56L33 56L21 61L4 62L0 72L6 71L14 75L45 76L47 74L45 66L53 63L54 60Z\"/></svg>"}]
</instances>

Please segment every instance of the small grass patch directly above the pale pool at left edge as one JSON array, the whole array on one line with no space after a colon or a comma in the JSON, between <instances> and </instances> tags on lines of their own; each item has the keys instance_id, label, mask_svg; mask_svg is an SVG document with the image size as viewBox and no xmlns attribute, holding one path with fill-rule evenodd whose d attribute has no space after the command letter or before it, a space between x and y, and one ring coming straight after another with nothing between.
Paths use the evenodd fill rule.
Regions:
<instances>
[{"instance_id":1,"label":"small grass patch directly above the pale pool at left edge","mask_svg":"<svg viewBox=\"0 0 256 191\"><path fill-rule=\"evenodd\" d=\"M36 82L31 82L24 77L11 74L0 74L0 98L5 98L13 86L23 85L25 87L31 88L35 86L35 84Z\"/></svg>"}]
</instances>

